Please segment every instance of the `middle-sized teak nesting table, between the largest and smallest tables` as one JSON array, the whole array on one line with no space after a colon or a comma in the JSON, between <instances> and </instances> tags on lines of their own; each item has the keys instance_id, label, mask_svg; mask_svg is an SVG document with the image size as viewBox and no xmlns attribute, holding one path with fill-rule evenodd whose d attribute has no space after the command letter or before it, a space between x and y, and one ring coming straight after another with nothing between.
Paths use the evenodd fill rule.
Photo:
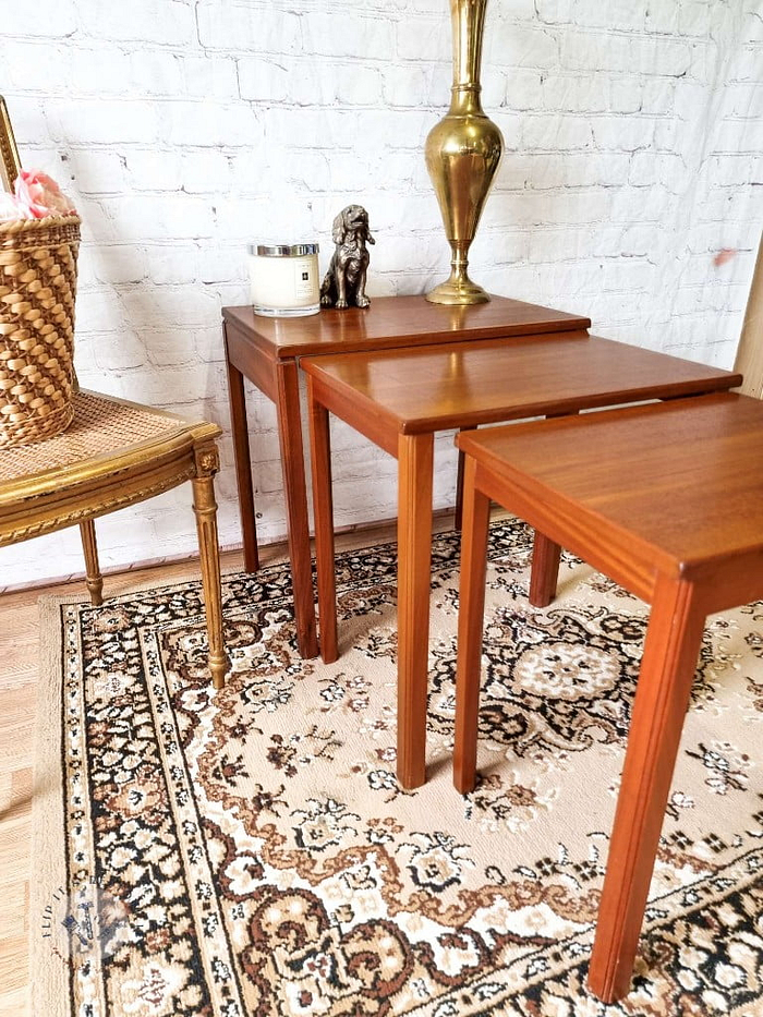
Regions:
<instances>
[{"instance_id":1,"label":"middle-sized teak nesting table, between the largest and smallest tables","mask_svg":"<svg viewBox=\"0 0 763 1017\"><path fill-rule=\"evenodd\" d=\"M489 305L488 305L489 306ZM741 375L582 330L305 358L320 645L337 655L328 412L398 459L398 751L425 780L434 435L533 416L732 388Z\"/></svg>"}]
</instances>

